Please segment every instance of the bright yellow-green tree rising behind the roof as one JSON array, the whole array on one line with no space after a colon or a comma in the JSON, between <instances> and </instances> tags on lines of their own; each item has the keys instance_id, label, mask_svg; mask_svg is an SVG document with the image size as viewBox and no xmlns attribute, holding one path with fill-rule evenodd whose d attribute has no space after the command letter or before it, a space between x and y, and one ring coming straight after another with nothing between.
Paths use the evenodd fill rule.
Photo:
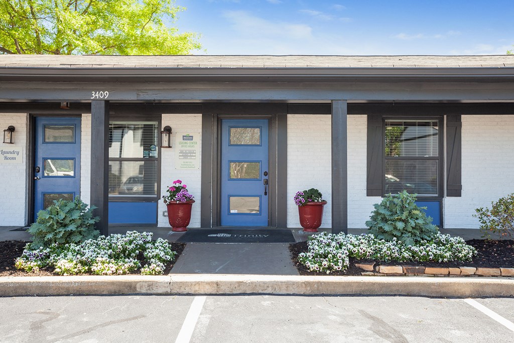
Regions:
<instances>
[{"instance_id":1,"label":"bright yellow-green tree rising behind the roof","mask_svg":"<svg viewBox=\"0 0 514 343\"><path fill-rule=\"evenodd\" d=\"M174 0L0 0L0 53L187 55L200 44L172 26L182 10Z\"/></svg>"}]
</instances>

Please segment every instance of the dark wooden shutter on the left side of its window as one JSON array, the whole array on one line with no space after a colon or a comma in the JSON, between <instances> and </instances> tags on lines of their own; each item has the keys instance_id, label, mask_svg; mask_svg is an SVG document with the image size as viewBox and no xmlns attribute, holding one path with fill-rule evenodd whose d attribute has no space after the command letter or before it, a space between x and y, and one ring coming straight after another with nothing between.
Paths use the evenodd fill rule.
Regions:
<instances>
[{"instance_id":1,"label":"dark wooden shutter on the left side of its window","mask_svg":"<svg viewBox=\"0 0 514 343\"><path fill-rule=\"evenodd\" d=\"M382 183L385 178L382 170L382 140L382 116L368 115L368 177L366 179L367 196L382 196Z\"/></svg>"}]
</instances>

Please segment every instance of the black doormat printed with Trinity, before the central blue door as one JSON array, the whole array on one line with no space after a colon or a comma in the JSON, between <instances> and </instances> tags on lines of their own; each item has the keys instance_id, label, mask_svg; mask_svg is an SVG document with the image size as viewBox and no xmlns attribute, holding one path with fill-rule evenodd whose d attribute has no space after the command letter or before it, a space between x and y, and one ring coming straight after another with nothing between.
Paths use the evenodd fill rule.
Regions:
<instances>
[{"instance_id":1,"label":"black doormat printed with Trinity, before the central blue door","mask_svg":"<svg viewBox=\"0 0 514 343\"><path fill-rule=\"evenodd\" d=\"M177 242L184 243L295 243L287 229L189 229Z\"/></svg>"}]
</instances>

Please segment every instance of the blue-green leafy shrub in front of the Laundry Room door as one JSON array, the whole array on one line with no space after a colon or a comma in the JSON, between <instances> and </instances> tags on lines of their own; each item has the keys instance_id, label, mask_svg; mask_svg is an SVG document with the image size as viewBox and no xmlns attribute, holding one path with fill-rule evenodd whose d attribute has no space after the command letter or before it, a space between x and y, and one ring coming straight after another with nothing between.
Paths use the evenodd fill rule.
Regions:
<instances>
[{"instance_id":1,"label":"blue-green leafy shrub in front of the Laundry Room door","mask_svg":"<svg viewBox=\"0 0 514 343\"><path fill-rule=\"evenodd\" d=\"M48 247L52 244L79 243L96 238L100 232L95 229L99 217L93 217L96 207L74 201L54 200L53 205L38 212L38 219L27 230L34 240L32 248Z\"/></svg>"}]
</instances>

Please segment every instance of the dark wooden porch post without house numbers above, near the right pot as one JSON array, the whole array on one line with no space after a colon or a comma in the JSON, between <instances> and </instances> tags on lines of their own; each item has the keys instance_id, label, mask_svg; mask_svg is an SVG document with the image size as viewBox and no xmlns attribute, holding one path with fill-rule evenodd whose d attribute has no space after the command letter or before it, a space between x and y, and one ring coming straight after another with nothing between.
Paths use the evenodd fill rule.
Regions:
<instances>
[{"instance_id":1,"label":"dark wooden porch post without house numbers above, near the right pot","mask_svg":"<svg viewBox=\"0 0 514 343\"><path fill-rule=\"evenodd\" d=\"M348 233L347 106L332 101L332 232Z\"/></svg>"}]
</instances>

